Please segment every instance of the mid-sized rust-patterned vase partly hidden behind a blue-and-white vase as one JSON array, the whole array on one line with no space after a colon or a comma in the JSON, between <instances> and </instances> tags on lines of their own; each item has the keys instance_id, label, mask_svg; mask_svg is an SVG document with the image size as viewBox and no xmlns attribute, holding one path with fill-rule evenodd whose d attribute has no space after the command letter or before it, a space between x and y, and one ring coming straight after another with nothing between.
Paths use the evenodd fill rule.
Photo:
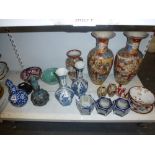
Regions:
<instances>
[{"instance_id":1,"label":"mid-sized rust-patterned vase partly hidden behind a blue-and-white vase","mask_svg":"<svg viewBox=\"0 0 155 155\"><path fill-rule=\"evenodd\" d=\"M75 69L75 63L77 61L83 61L81 57L81 51L79 50L70 50L66 54L68 58L66 59L66 68L68 69L68 75L71 80L76 79L76 69Z\"/></svg>"}]
</instances>

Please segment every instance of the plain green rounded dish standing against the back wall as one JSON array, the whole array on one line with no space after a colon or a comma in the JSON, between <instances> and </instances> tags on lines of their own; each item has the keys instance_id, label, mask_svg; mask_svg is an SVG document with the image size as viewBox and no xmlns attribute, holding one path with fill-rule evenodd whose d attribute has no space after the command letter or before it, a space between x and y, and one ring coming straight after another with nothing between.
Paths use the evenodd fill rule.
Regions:
<instances>
[{"instance_id":1,"label":"plain green rounded dish standing against the back wall","mask_svg":"<svg viewBox=\"0 0 155 155\"><path fill-rule=\"evenodd\" d=\"M46 82L47 84L54 85L58 83L58 78L55 74L57 68L48 68L43 71L41 75L41 80Z\"/></svg>"}]
</instances>

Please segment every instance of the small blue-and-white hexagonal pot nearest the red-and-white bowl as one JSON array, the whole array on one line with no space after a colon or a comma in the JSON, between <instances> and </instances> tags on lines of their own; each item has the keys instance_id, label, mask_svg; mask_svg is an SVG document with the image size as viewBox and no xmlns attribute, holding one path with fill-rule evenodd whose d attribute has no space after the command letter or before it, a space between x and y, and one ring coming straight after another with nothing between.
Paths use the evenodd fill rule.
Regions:
<instances>
[{"instance_id":1,"label":"small blue-and-white hexagonal pot nearest the red-and-white bowl","mask_svg":"<svg viewBox=\"0 0 155 155\"><path fill-rule=\"evenodd\" d=\"M114 102L114 106L113 106L114 114L123 117L129 113L130 111L129 100L124 98L118 98L113 102Z\"/></svg>"}]
</instances>

